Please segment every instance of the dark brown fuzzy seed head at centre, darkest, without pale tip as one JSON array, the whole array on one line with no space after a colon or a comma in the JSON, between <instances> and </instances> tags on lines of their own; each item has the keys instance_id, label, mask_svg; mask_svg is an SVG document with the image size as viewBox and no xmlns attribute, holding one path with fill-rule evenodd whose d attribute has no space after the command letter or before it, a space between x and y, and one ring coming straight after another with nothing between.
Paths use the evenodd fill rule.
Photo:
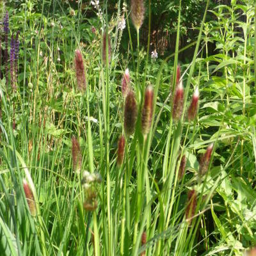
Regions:
<instances>
[{"instance_id":1,"label":"dark brown fuzzy seed head at centre, darkest, without pale tip","mask_svg":"<svg viewBox=\"0 0 256 256\"><path fill-rule=\"evenodd\" d=\"M127 136L133 134L136 126L138 109L134 92L127 93L124 106L124 131Z\"/></svg>"}]
</instances>

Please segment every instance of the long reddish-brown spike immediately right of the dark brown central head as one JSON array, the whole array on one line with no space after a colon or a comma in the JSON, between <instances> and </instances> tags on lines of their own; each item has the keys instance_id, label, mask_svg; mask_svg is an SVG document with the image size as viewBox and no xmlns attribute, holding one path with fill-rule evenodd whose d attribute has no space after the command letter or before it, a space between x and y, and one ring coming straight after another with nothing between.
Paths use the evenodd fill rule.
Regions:
<instances>
[{"instance_id":1,"label":"long reddish-brown spike immediately right of the dark brown central head","mask_svg":"<svg viewBox=\"0 0 256 256\"><path fill-rule=\"evenodd\" d=\"M141 112L141 131L146 136L150 131L153 115L154 90L150 85L145 90L144 105Z\"/></svg>"}]
</instances>

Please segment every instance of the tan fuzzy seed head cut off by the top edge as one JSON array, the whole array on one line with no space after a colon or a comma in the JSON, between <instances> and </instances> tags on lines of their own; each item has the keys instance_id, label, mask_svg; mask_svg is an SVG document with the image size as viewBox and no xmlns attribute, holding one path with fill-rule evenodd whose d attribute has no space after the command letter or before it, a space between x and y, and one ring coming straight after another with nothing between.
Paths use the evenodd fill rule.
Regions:
<instances>
[{"instance_id":1,"label":"tan fuzzy seed head cut off by the top edge","mask_svg":"<svg viewBox=\"0 0 256 256\"><path fill-rule=\"evenodd\" d=\"M143 0L131 0L131 15L132 15L132 23L136 30L138 31L144 20L144 1Z\"/></svg>"}]
</instances>

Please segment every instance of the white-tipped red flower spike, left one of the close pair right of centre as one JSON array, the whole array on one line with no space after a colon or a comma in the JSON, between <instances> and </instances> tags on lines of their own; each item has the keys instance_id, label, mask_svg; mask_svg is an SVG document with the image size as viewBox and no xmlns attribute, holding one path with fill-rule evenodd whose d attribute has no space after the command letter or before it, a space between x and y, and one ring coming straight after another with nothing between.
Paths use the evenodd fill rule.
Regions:
<instances>
[{"instance_id":1,"label":"white-tipped red flower spike, left one of the close pair right of centre","mask_svg":"<svg viewBox=\"0 0 256 256\"><path fill-rule=\"evenodd\" d=\"M184 102L184 88L182 80L180 80L173 98L173 108L172 108L172 118L174 120L179 120L183 111L183 102Z\"/></svg>"}]
</instances>

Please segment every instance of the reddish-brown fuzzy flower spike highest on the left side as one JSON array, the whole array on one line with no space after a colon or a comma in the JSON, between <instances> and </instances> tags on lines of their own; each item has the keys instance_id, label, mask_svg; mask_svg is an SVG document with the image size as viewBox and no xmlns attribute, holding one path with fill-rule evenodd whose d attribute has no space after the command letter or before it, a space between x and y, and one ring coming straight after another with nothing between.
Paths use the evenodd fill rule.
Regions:
<instances>
[{"instance_id":1,"label":"reddish-brown fuzzy flower spike highest on the left side","mask_svg":"<svg viewBox=\"0 0 256 256\"><path fill-rule=\"evenodd\" d=\"M85 92L86 77L85 77L84 61L83 61L82 52L79 49L76 49L76 52L75 52L75 69L76 69L77 87L81 92Z\"/></svg>"}]
</instances>

